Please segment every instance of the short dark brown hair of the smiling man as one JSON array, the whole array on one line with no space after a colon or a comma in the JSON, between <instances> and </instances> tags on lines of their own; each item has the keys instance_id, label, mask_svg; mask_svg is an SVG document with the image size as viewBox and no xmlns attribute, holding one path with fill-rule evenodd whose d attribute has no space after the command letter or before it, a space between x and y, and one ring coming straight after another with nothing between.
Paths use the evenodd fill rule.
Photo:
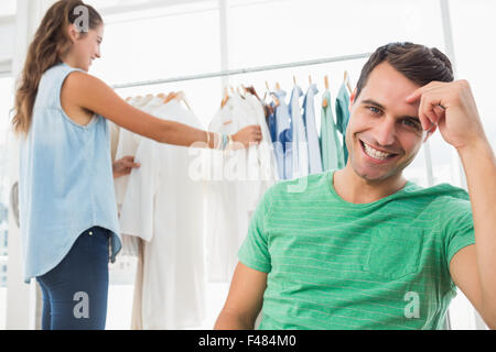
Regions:
<instances>
[{"instance_id":1,"label":"short dark brown hair of the smiling man","mask_svg":"<svg viewBox=\"0 0 496 352\"><path fill-rule=\"evenodd\" d=\"M429 48L408 42L389 43L377 48L364 65L356 85L356 98L367 84L373 69L382 62L388 62L396 70L419 86L433 80L453 80L450 59L435 47Z\"/></svg>"}]
</instances>

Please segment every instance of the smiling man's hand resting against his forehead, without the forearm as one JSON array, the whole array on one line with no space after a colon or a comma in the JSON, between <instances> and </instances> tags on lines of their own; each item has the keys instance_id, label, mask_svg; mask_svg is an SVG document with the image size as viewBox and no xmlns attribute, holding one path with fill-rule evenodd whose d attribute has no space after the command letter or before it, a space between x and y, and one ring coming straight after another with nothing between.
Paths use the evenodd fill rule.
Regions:
<instances>
[{"instance_id":1,"label":"smiling man's hand resting against his forehead, without the forearm","mask_svg":"<svg viewBox=\"0 0 496 352\"><path fill-rule=\"evenodd\" d=\"M409 103L419 100L422 128L434 132L438 127L444 141L457 151L486 139L466 80L431 81L407 98Z\"/></svg>"}]
</instances>

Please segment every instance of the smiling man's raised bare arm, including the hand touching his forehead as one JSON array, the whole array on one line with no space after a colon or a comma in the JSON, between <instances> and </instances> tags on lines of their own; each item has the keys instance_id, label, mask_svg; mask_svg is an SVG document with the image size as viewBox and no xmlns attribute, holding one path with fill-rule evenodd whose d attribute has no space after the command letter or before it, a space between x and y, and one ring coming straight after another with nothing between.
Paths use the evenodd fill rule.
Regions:
<instances>
[{"instance_id":1,"label":"smiling man's raised bare arm, including the hand touching his forehead","mask_svg":"<svg viewBox=\"0 0 496 352\"><path fill-rule=\"evenodd\" d=\"M450 263L453 282L496 329L496 160L484 133L472 90L466 80L433 81L417 89L407 102L420 100L419 119L424 130L439 128L453 145L465 170L475 244L459 251ZM450 211L450 209L446 209Z\"/></svg>"}]
</instances>

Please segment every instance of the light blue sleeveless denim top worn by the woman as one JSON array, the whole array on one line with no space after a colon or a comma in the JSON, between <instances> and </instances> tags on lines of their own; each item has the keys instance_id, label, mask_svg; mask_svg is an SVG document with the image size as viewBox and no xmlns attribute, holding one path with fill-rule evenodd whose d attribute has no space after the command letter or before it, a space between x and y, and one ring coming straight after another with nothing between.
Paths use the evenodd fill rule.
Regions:
<instances>
[{"instance_id":1,"label":"light blue sleeveless denim top worn by the woman","mask_svg":"<svg viewBox=\"0 0 496 352\"><path fill-rule=\"evenodd\" d=\"M93 227L110 231L112 263L121 249L107 120L95 114L87 125L79 125L62 109L62 85L76 70L61 63L43 74L30 131L21 138L25 283L61 263L79 234Z\"/></svg>"}]
</instances>

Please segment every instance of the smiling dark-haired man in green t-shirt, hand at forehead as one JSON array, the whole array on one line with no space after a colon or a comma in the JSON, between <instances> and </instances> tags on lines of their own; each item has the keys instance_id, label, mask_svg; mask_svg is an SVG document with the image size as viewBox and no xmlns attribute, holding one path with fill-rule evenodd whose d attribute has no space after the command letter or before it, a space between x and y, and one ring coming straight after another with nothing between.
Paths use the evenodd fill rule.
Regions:
<instances>
[{"instance_id":1,"label":"smiling dark-haired man in green t-shirt, hand at forehead","mask_svg":"<svg viewBox=\"0 0 496 352\"><path fill-rule=\"evenodd\" d=\"M496 161L468 84L438 50L391 43L349 109L346 167L263 196L215 328L252 329L261 310L260 329L442 329L455 286L496 328ZM402 176L436 129L470 197Z\"/></svg>"}]
</instances>

